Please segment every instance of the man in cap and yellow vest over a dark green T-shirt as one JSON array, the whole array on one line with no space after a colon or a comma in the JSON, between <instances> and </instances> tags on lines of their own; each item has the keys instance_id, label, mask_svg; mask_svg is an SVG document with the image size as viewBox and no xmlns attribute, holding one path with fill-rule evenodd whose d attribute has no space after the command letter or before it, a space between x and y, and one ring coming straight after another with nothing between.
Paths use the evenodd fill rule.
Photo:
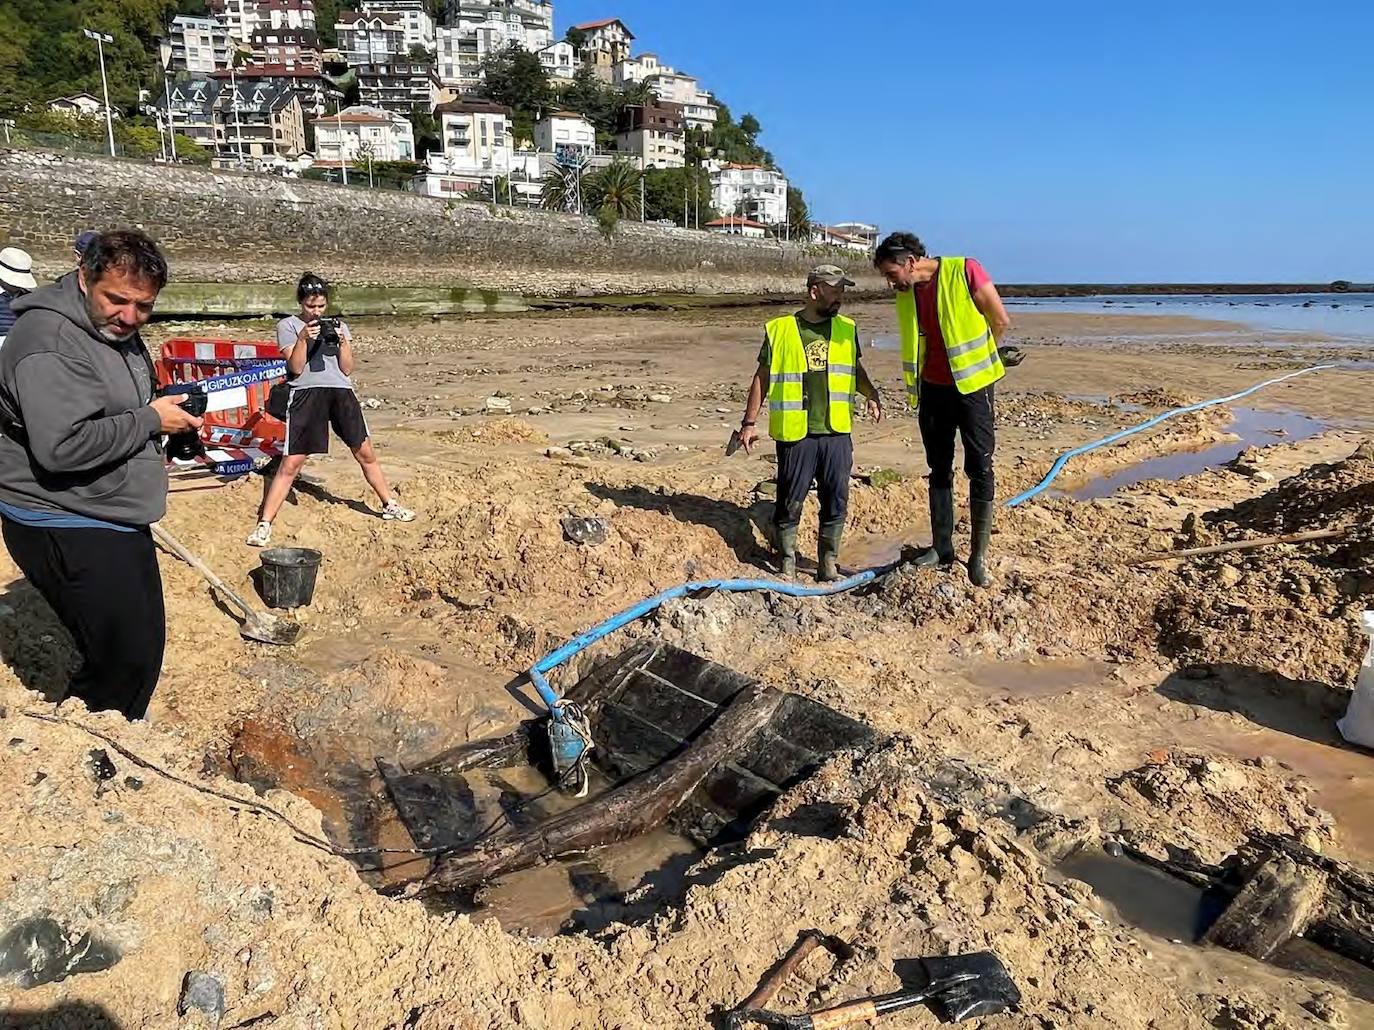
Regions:
<instances>
[{"instance_id":1,"label":"man in cap and yellow vest over a dark green T-shirt","mask_svg":"<svg viewBox=\"0 0 1374 1030\"><path fill-rule=\"evenodd\" d=\"M882 420L882 400L859 363L859 334L853 320L840 313L849 286L853 280L844 269L818 265L807 276L805 306L768 323L739 427L739 442L752 453L767 398L768 435L778 445L772 534L778 570L789 580L797 575L797 527L813 482L820 499L816 578L840 578L856 394L867 400L868 415Z\"/></svg>"}]
</instances>

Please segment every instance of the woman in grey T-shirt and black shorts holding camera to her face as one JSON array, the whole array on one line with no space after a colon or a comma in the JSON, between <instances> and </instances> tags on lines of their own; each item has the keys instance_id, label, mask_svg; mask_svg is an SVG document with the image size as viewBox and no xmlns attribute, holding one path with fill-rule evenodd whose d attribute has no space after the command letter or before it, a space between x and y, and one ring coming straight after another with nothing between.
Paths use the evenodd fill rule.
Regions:
<instances>
[{"instance_id":1,"label":"woman in grey T-shirt and black shorts holding camera to her face","mask_svg":"<svg viewBox=\"0 0 1374 1030\"><path fill-rule=\"evenodd\" d=\"M313 272L301 276L295 287L301 313L276 324L276 342L286 356L286 379L291 400L286 413L286 456L268 485L258 525L249 534L250 547L272 541L272 520L291 483L311 455L327 455L330 427L348 445L363 468L363 478L382 501L382 518L414 522L415 512L392 497L382 466L368 438L363 405L353 393L353 336L342 319L328 319L330 286Z\"/></svg>"}]
</instances>

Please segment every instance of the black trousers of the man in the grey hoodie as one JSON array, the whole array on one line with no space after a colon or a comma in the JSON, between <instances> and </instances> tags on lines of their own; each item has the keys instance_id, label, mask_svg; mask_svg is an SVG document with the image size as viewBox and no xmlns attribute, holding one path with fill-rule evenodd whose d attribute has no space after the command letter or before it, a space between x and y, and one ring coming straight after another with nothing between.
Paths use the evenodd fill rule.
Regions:
<instances>
[{"instance_id":1,"label":"black trousers of the man in the grey hoodie","mask_svg":"<svg viewBox=\"0 0 1374 1030\"><path fill-rule=\"evenodd\" d=\"M142 718L162 672L166 613L147 530L38 529L4 519L4 542L76 640L69 696Z\"/></svg>"}]
</instances>

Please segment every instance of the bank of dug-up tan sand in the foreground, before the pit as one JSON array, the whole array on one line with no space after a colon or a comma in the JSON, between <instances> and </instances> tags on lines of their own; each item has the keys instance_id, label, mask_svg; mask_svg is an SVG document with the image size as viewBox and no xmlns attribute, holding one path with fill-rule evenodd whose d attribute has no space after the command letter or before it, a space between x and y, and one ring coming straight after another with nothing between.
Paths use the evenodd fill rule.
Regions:
<instances>
[{"instance_id":1,"label":"bank of dug-up tan sand in the foreground, before the pit","mask_svg":"<svg viewBox=\"0 0 1374 1030\"><path fill-rule=\"evenodd\" d=\"M92 1003L126 1030L173 1026L183 978L199 971L223 986L223 1026L705 1026L812 926L857 956L838 970L804 967L798 1004L896 989L899 959L985 948L1022 989L1022 1011L998 1020L1014 1030L1205 1027L1209 1012L1242 1005L1265 1026L1296 1026L1285 1020L1305 1000L1161 976L1145 943L1094 913L1083 884L1050 882L1000 823L934 802L907 772L919 755L901 742L840 759L785 798L779 816L841 812L835 839L764 825L732 857L691 871L682 906L646 924L518 939L495 922L363 887L345 861L250 809L247 787L202 779L155 729L73 717L242 801L7 707L0 790L14 831L0 842L0 926L48 913L122 956L60 983L0 987L11 1014ZM91 772L93 747L111 759L103 780ZM319 832L305 802L267 801Z\"/></svg>"}]
</instances>

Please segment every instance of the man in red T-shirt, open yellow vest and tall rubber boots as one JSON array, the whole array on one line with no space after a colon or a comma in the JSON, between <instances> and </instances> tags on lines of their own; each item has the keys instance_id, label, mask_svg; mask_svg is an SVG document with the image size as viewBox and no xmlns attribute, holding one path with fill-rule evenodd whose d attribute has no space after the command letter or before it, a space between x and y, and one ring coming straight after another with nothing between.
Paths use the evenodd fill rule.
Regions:
<instances>
[{"instance_id":1,"label":"man in red T-shirt, open yellow vest and tall rubber boots","mask_svg":"<svg viewBox=\"0 0 1374 1030\"><path fill-rule=\"evenodd\" d=\"M992 453L996 428L992 391L1006 375L998 341L1011 328L1006 308L973 258L930 257L910 232L878 244L874 268L897 291L897 328L907 402L916 412L930 466L932 547L925 567L954 564L954 438L963 441L973 540L969 580L987 586L992 537ZM1018 352L1020 354L1020 352ZM1011 360L1009 354L1009 363Z\"/></svg>"}]
</instances>

